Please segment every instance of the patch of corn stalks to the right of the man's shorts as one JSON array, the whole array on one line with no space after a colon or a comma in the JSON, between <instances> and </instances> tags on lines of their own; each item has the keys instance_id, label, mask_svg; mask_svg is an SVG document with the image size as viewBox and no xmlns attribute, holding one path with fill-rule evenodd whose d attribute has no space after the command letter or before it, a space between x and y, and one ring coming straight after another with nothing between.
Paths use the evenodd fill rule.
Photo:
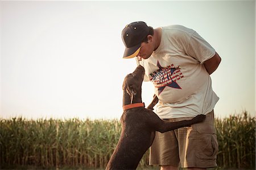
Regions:
<instances>
[{"instance_id":1,"label":"patch of corn stalks to the right of the man's shorts","mask_svg":"<svg viewBox=\"0 0 256 170\"><path fill-rule=\"evenodd\" d=\"M255 117L242 115L215 121L217 163L223 168L255 169Z\"/></svg>"}]
</instances>

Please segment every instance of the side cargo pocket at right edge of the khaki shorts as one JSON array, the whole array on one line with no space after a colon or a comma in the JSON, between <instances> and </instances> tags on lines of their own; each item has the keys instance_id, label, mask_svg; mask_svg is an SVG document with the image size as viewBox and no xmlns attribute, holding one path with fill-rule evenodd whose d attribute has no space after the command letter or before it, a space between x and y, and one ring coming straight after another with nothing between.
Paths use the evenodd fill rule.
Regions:
<instances>
[{"instance_id":1,"label":"side cargo pocket at right edge of the khaki shorts","mask_svg":"<svg viewBox=\"0 0 256 170\"><path fill-rule=\"evenodd\" d=\"M196 156L200 159L216 159L218 142L214 126L200 125L196 131L199 135Z\"/></svg>"}]
</instances>

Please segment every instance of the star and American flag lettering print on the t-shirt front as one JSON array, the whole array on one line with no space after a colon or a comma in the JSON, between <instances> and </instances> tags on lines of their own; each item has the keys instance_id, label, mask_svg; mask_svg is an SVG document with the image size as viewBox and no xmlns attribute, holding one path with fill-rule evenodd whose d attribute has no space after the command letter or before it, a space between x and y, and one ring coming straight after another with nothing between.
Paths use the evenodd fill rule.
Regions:
<instances>
[{"instance_id":1,"label":"star and American flag lettering print on the t-shirt front","mask_svg":"<svg viewBox=\"0 0 256 170\"><path fill-rule=\"evenodd\" d=\"M183 78L183 74L180 71L179 67L175 67L174 64L169 65L167 68L163 68L158 61L158 71L155 71L150 74L152 77L150 81L154 83L155 88L158 88L158 95L163 92L166 86L175 89L181 89L177 84L177 80Z\"/></svg>"}]
</instances>

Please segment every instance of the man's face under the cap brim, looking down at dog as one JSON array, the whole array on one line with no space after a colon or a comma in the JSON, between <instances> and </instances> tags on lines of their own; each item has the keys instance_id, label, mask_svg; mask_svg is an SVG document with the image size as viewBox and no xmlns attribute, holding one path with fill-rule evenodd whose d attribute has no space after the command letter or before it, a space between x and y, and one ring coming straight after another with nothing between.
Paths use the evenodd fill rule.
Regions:
<instances>
[{"instance_id":1,"label":"man's face under the cap brim, looking down at dog","mask_svg":"<svg viewBox=\"0 0 256 170\"><path fill-rule=\"evenodd\" d=\"M152 40L148 40L148 43L141 43L141 49L137 55L138 60L141 61L142 59L148 59L154 51L154 45Z\"/></svg>"}]
</instances>

